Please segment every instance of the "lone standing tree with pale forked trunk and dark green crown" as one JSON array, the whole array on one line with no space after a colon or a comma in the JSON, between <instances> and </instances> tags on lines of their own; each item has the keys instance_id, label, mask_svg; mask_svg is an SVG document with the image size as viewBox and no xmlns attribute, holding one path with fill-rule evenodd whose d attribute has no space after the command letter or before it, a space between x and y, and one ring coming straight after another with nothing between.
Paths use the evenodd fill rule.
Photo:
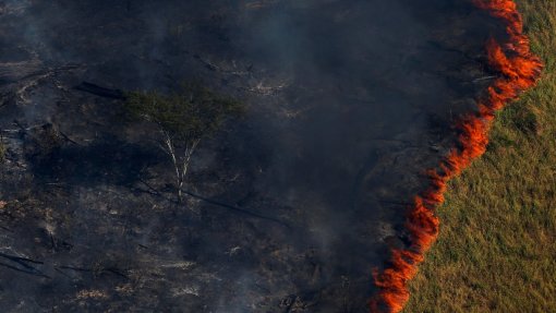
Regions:
<instances>
[{"instance_id":1,"label":"lone standing tree with pale forked trunk and dark green crown","mask_svg":"<svg viewBox=\"0 0 556 313\"><path fill-rule=\"evenodd\" d=\"M129 93L124 108L132 117L157 125L159 146L174 168L180 202L192 156L200 142L217 132L227 119L244 111L242 103L198 83L183 84L180 91L169 95L156 91Z\"/></svg>"}]
</instances>

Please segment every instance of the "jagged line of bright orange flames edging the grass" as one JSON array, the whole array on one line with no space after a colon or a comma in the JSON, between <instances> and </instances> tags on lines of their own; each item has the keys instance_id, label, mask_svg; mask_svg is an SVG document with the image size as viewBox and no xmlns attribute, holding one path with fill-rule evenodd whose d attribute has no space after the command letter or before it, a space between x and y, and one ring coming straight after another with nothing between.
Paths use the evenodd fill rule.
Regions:
<instances>
[{"instance_id":1,"label":"jagged line of bright orange flames edging the grass","mask_svg":"<svg viewBox=\"0 0 556 313\"><path fill-rule=\"evenodd\" d=\"M495 111L516 99L520 92L534 86L543 68L530 50L529 38L523 34L523 21L513 0L471 1L506 24L507 43L501 46L491 39L486 45L488 63L500 76L479 100L478 111L461 119L459 146L450 151L438 169L428 171L428 189L415 196L409 208L404 226L411 245L392 250L389 265L383 272L374 270L375 286L379 291L370 301L373 313L397 313L403 309L410 297L408 281L415 276L424 253L438 236L439 220L434 208L444 202L447 182L484 154Z\"/></svg>"}]
</instances>

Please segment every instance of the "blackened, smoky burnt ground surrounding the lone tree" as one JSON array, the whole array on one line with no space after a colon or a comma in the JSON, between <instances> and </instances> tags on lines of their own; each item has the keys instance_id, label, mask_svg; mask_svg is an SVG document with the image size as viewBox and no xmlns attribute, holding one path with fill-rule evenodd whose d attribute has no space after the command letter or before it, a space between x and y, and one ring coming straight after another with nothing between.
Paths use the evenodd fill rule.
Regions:
<instances>
[{"instance_id":1,"label":"blackened, smoky burnt ground surrounding the lone tree","mask_svg":"<svg viewBox=\"0 0 556 313\"><path fill-rule=\"evenodd\" d=\"M467 1L0 1L1 311L365 312L498 31ZM179 204L110 91L193 79L249 109Z\"/></svg>"}]
</instances>

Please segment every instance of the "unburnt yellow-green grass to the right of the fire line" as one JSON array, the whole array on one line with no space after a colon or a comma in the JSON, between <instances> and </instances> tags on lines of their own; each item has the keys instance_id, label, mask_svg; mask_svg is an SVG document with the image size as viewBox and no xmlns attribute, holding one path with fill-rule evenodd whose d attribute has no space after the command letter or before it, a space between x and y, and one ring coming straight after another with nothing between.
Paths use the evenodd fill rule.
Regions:
<instances>
[{"instance_id":1,"label":"unburnt yellow-green grass to the right of the fire line","mask_svg":"<svg viewBox=\"0 0 556 313\"><path fill-rule=\"evenodd\" d=\"M543 77L450 183L406 313L556 312L556 1L517 2Z\"/></svg>"}]
</instances>

